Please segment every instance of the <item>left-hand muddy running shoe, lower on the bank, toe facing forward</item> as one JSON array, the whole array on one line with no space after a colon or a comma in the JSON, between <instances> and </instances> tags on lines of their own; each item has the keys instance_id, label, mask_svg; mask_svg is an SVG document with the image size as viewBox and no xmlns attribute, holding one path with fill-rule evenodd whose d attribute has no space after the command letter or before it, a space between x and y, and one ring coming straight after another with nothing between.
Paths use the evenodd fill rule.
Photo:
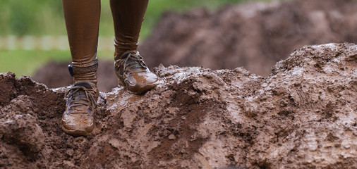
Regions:
<instances>
[{"instance_id":1,"label":"left-hand muddy running shoe, lower on the bank, toe facing forward","mask_svg":"<svg viewBox=\"0 0 357 169\"><path fill-rule=\"evenodd\" d=\"M67 94L61 127L67 134L86 136L95 128L95 91L88 82L76 82Z\"/></svg>"}]
</instances>

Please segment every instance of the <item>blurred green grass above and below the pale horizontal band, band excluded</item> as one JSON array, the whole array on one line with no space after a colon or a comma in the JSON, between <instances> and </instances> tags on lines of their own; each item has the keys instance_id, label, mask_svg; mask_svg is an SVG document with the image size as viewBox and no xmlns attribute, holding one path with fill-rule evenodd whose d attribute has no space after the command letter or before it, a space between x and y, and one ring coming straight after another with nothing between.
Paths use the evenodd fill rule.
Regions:
<instances>
[{"instance_id":1,"label":"blurred green grass above and below the pale horizontal band, band excluded","mask_svg":"<svg viewBox=\"0 0 357 169\"><path fill-rule=\"evenodd\" d=\"M150 0L140 40L145 39L164 11L184 12L192 8L215 10L220 6L248 0ZM267 1L267 0L265 0ZM99 36L114 36L109 0L102 0ZM60 0L1 0L0 36L66 35ZM99 59L112 59L111 51L98 51ZM0 50L0 73L11 71L33 75L48 61L71 61L69 51Z\"/></svg>"}]
</instances>

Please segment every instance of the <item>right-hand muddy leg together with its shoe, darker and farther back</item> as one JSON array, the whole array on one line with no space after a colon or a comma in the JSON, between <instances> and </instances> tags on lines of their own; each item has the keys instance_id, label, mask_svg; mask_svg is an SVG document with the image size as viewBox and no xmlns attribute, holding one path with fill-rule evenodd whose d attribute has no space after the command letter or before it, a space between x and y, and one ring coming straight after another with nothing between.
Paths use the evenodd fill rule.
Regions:
<instances>
[{"instance_id":1,"label":"right-hand muddy leg together with its shoe, darker and farther back","mask_svg":"<svg viewBox=\"0 0 357 169\"><path fill-rule=\"evenodd\" d=\"M157 82L157 76L150 72L137 51L147 3L148 0L110 0L115 30L115 73L118 84L135 94L147 92Z\"/></svg>"}]
</instances>

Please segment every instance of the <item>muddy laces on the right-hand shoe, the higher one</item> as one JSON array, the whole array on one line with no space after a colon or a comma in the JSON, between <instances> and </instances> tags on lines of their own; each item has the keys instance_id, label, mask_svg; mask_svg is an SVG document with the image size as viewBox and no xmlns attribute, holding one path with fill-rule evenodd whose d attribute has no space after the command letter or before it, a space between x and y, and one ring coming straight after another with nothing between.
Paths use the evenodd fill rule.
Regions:
<instances>
[{"instance_id":1,"label":"muddy laces on the right-hand shoe, the higher one","mask_svg":"<svg viewBox=\"0 0 357 169\"><path fill-rule=\"evenodd\" d=\"M131 58L131 62L127 63L129 58ZM138 66L139 63L140 66ZM140 73L140 72L145 72L145 70L140 69L140 68L147 68L147 65L144 63L144 59L142 56L140 56L139 54L131 54L129 53L128 56L126 57L125 60L121 60L121 65L124 65L123 71L126 72L126 70L129 68L132 68L132 72L133 73Z\"/></svg>"}]
</instances>

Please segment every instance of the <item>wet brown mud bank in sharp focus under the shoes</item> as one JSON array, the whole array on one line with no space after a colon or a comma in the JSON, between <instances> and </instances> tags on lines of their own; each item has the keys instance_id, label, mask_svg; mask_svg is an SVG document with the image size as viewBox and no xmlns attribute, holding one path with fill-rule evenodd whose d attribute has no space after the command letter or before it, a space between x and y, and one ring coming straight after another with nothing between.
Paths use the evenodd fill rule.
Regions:
<instances>
[{"instance_id":1,"label":"wet brown mud bank in sharp focus under the shoes","mask_svg":"<svg viewBox=\"0 0 357 169\"><path fill-rule=\"evenodd\" d=\"M357 45L244 68L155 68L143 96L101 92L96 130L59 127L66 88L0 74L0 168L356 168Z\"/></svg>"}]
</instances>

